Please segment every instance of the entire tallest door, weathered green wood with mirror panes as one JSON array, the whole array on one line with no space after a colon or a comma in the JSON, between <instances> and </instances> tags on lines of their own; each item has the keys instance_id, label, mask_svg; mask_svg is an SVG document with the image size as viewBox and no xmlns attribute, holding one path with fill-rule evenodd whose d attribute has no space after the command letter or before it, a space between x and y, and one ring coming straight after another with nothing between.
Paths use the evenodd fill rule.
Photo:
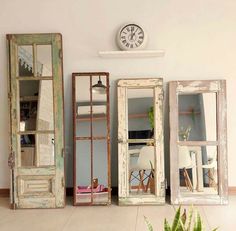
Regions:
<instances>
[{"instance_id":1,"label":"entire tallest door, weathered green wood with mirror panes","mask_svg":"<svg viewBox=\"0 0 236 231\"><path fill-rule=\"evenodd\" d=\"M60 34L7 35L14 208L65 204Z\"/></svg>"}]
</instances>

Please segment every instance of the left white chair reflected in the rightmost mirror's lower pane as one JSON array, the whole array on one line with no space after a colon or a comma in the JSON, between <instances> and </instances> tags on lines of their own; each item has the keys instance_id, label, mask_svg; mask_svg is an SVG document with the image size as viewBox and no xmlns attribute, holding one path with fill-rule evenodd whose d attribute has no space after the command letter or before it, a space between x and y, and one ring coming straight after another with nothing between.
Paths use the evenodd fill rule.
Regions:
<instances>
[{"instance_id":1,"label":"left white chair reflected in the rightmost mirror's lower pane","mask_svg":"<svg viewBox=\"0 0 236 231\"><path fill-rule=\"evenodd\" d=\"M179 146L179 169L183 170L185 185L190 191L193 191L193 184L189 177L187 169L192 169L193 173L193 168L195 168L195 165L190 156L190 151L188 147Z\"/></svg>"}]
</instances>

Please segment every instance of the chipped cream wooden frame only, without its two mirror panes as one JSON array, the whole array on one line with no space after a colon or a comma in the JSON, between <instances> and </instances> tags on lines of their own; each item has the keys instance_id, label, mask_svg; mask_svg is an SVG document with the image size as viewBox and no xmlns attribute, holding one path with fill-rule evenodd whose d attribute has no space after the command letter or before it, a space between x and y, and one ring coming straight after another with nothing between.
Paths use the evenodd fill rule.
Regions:
<instances>
[{"instance_id":1,"label":"chipped cream wooden frame only, without its two mirror panes","mask_svg":"<svg viewBox=\"0 0 236 231\"><path fill-rule=\"evenodd\" d=\"M154 142L155 146L155 195L129 194L128 143L140 140L128 139L128 89L153 89L154 92ZM118 181L119 205L142 205L165 203L164 146L163 146L163 80L161 78L121 79L117 83L118 98Z\"/></svg>"}]
</instances>

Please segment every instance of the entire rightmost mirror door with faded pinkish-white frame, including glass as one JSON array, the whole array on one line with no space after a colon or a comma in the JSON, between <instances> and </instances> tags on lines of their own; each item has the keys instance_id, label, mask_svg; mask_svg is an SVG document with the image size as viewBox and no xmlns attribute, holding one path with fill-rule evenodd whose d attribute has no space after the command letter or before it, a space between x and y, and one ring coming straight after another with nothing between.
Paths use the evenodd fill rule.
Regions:
<instances>
[{"instance_id":1,"label":"entire rightmost mirror door with faded pinkish-white frame, including glass","mask_svg":"<svg viewBox=\"0 0 236 231\"><path fill-rule=\"evenodd\" d=\"M225 84L169 83L173 204L227 203Z\"/></svg>"}]
</instances>

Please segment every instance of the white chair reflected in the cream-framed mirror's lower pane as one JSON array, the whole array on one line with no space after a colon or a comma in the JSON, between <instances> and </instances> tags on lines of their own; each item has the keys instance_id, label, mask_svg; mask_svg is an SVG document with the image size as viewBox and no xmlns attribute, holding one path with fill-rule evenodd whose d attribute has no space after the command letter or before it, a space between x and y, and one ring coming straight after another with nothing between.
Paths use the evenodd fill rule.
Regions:
<instances>
[{"instance_id":1,"label":"white chair reflected in the cream-framed mirror's lower pane","mask_svg":"<svg viewBox=\"0 0 236 231\"><path fill-rule=\"evenodd\" d=\"M130 150L132 152L132 150ZM130 165L129 183L131 188L131 181L137 179L139 181L138 191L142 188L143 191L147 191L150 178L153 174L154 167L154 146L144 146L140 149L139 157L136 164ZM138 175L135 175L135 172ZM150 171L148 174L146 171ZM132 178L133 177L133 178ZM144 181L148 179L147 187L144 186Z\"/></svg>"}]
</instances>

